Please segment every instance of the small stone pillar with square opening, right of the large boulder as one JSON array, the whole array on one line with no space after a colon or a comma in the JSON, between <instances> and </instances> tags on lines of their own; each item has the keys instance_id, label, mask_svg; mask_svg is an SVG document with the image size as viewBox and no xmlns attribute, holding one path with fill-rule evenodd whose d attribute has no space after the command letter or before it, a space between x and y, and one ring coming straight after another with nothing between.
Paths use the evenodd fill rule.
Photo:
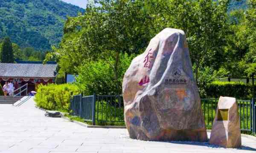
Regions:
<instances>
[{"instance_id":1,"label":"small stone pillar with square opening, right of the large boulder","mask_svg":"<svg viewBox=\"0 0 256 153\"><path fill-rule=\"evenodd\" d=\"M236 98L220 97L209 143L228 148L241 147L240 119Z\"/></svg>"}]
</instances>

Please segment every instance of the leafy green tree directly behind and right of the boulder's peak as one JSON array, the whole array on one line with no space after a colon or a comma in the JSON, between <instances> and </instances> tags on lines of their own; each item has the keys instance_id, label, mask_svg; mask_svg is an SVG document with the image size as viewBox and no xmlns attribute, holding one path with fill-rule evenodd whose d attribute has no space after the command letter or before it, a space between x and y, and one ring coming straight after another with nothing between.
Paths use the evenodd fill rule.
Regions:
<instances>
[{"instance_id":1,"label":"leafy green tree directly behind and right of the boulder's peak","mask_svg":"<svg viewBox=\"0 0 256 153\"><path fill-rule=\"evenodd\" d=\"M172 27L186 33L196 82L200 68L220 68L228 29L228 3L229 0L147 0L157 31Z\"/></svg>"}]
</instances>

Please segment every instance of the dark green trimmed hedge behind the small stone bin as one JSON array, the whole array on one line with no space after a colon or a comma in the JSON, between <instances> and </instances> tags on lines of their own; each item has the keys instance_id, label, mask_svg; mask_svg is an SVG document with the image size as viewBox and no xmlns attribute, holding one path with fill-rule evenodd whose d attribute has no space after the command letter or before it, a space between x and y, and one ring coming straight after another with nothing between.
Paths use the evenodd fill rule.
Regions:
<instances>
[{"instance_id":1,"label":"dark green trimmed hedge behind the small stone bin","mask_svg":"<svg viewBox=\"0 0 256 153\"><path fill-rule=\"evenodd\" d=\"M244 82L221 82L214 81L207 84L207 98L218 98L219 96L231 96L236 99L252 98L252 85Z\"/></svg>"}]
</instances>

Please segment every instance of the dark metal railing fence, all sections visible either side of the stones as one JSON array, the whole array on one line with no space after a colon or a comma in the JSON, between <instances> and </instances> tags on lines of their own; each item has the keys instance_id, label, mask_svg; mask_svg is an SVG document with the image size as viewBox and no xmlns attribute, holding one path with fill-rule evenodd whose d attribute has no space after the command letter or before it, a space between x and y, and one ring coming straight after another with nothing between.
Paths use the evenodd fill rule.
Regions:
<instances>
[{"instance_id":1,"label":"dark metal railing fence, all sections visible either side of the stones","mask_svg":"<svg viewBox=\"0 0 256 153\"><path fill-rule=\"evenodd\" d=\"M80 116L86 121L100 123L124 122L124 104L122 95L92 95L73 96L70 109L73 115ZM241 131L256 133L256 105L255 99L238 100ZM201 99L205 124L212 127L218 99Z\"/></svg>"}]
</instances>

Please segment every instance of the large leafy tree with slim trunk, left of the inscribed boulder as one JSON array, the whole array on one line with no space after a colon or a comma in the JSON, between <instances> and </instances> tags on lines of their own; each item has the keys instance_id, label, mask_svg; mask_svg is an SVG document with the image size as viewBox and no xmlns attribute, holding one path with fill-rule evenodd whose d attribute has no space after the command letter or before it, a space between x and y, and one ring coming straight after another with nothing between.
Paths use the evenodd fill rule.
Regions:
<instances>
[{"instance_id":1,"label":"large leafy tree with slim trunk, left of the inscribed boulder","mask_svg":"<svg viewBox=\"0 0 256 153\"><path fill-rule=\"evenodd\" d=\"M112 57L114 62L109 64L114 72L115 93L121 94L120 54L144 51L154 36L150 27L154 28L142 0L101 0L100 4L101 7L88 7L84 15L67 20L60 47L53 48L54 55L59 61L69 61L73 68L66 72L76 70L84 60L108 62Z\"/></svg>"}]
</instances>

